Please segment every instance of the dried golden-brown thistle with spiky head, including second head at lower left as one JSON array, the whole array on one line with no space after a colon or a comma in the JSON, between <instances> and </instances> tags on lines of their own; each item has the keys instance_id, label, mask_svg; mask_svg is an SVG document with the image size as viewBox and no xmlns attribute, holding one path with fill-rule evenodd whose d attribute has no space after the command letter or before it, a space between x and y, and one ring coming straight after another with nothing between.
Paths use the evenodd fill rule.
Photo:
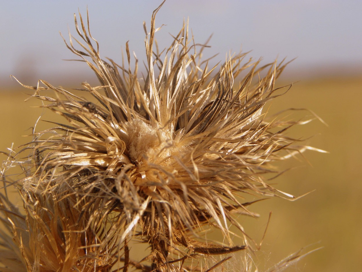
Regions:
<instances>
[{"instance_id":1,"label":"dried golden-brown thistle with spiky head, including second head at lower left","mask_svg":"<svg viewBox=\"0 0 362 272\"><path fill-rule=\"evenodd\" d=\"M285 64L258 68L258 62L242 64L246 54L240 53L220 70L209 69L201 59L205 45L193 43L187 24L159 53L160 7L150 33L144 25L146 76L139 78L135 55L132 71L128 44L128 68L101 59L89 17L86 28L79 15L80 28L76 16L75 25L84 44L70 37L66 45L96 73L100 86L78 89L94 99L42 80L45 87L23 85L68 124L34 133L16 155L30 150L28 159L7 161L24 170L16 186L25 215L1 195L8 230L0 233L2 271L211 271L228 258L210 264L209 256L252 246L236 220L256 216L243 195L295 198L263 180L275 172L273 161L312 149L283 134L302 122L267 121L262 112L279 96L275 79ZM55 96L43 95L46 90ZM230 225L244 244L233 244ZM226 243L202 238L208 228L220 230ZM130 240L148 243L148 254L131 259Z\"/></svg>"}]
</instances>

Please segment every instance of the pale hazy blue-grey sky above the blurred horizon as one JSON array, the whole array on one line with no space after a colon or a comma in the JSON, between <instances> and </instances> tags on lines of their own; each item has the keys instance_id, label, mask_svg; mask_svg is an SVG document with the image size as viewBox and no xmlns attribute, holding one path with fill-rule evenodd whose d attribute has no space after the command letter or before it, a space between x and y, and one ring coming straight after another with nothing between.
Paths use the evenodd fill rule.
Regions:
<instances>
[{"instance_id":1,"label":"pale hazy blue-grey sky above the blurred horizon","mask_svg":"<svg viewBox=\"0 0 362 272\"><path fill-rule=\"evenodd\" d=\"M100 42L102 57L121 61L121 47L129 40L130 49L144 59L144 31L153 9L161 1L1 1L0 4L0 78L22 76L32 81L54 74L85 73L82 63L65 47L59 31L72 34L73 13L85 17L88 5L92 35ZM156 17L161 48L172 40L189 17L195 42L203 43L214 34L206 56L253 50L249 55L265 61L298 57L290 69L306 67L362 67L361 0L256 0L256 1L176 1L168 0ZM80 79L84 81L85 79ZM6 84L6 82L3 82ZM24 82L34 85L36 82Z\"/></svg>"}]
</instances>

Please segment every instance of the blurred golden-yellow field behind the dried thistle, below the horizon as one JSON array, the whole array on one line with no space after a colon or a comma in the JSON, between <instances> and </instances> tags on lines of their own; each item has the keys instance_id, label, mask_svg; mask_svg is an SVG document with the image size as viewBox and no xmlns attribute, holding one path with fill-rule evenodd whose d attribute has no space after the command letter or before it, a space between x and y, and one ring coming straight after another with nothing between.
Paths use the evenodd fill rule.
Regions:
<instances>
[{"instance_id":1,"label":"blurred golden-yellow field behind the dried thistle, below the horizon","mask_svg":"<svg viewBox=\"0 0 362 272\"><path fill-rule=\"evenodd\" d=\"M28 98L25 93L30 92L21 86L0 90L1 151L12 143L16 147L31 140L22 135L31 134L32 126L44 112L41 108L31 108L39 106L39 100L24 102ZM277 189L297 196L315 191L295 202L276 198L258 202L251 210L260 213L260 218L240 218L245 231L258 242L268 222L269 211L273 211L261 250L253 257L259 263L260 271L309 244L312 245L306 251L323 248L286 271L360 271L361 101L362 77L351 76L301 79L287 94L271 103L270 112L308 108L320 116L328 126L314 120L292 128L289 135L303 136L307 139L306 144L330 153L307 151L304 153L307 160L284 161L281 169L297 167L274 180ZM307 116L306 119L314 117L308 111L296 111L295 114ZM41 119L50 120L47 116L50 116L49 113ZM50 126L39 121L37 131ZM237 260L233 262L237 268Z\"/></svg>"}]
</instances>

